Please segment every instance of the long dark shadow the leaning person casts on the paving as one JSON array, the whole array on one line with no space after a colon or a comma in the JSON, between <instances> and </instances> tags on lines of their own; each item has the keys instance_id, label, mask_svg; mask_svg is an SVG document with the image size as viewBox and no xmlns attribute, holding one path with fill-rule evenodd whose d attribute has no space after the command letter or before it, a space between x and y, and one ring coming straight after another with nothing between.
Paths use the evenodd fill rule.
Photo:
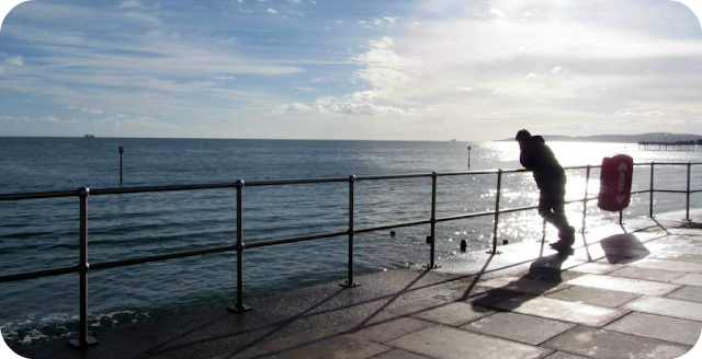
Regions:
<instances>
[{"instance_id":1,"label":"long dark shadow the leaning person casts on the paving","mask_svg":"<svg viewBox=\"0 0 702 359\"><path fill-rule=\"evenodd\" d=\"M472 304L478 308L492 308L510 300L509 309L516 309L534 297L542 296L563 282L561 267L570 254L552 254L532 262L529 271L517 280L487 291ZM477 286L480 286L478 282ZM516 298L519 298L514 300Z\"/></svg>"}]
</instances>

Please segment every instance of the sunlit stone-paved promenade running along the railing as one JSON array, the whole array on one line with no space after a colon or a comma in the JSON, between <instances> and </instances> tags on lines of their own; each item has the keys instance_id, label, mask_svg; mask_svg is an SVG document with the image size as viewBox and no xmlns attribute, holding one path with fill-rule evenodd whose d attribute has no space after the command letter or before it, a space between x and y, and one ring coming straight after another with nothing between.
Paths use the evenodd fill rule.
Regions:
<instances>
[{"instance_id":1,"label":"sunlit stone-paved promenade running along the railing","mask_svg":"<svg viewBox=\"0 0 702 359\"><path fill-rule=\"evenodd\" d=\"M702 210L303 288L66 340L23 358L680 358L702 334ZM548 238L547 240L554 240Z\"/></svg>"}]
</instances>

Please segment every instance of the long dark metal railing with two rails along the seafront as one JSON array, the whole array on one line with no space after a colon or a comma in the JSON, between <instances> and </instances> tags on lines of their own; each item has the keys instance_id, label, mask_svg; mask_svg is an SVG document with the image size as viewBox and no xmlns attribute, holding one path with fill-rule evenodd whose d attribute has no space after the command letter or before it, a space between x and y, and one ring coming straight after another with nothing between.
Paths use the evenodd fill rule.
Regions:
<instances>
[{"instance_id":1,"label":"long dark metal railing with two rails along the seafront","mask_svg":"<svg viewBox=\"0 0 702 359\"><path fill-rule=\"evenodd\" d=\"M634 194L645 194L649 193L649 217L654 216L654 193L677 193L677 194L686 194L686 219L690 221L690 195L694 193L700 193L702 189L691 189L690 178L691 178L691 166L692 165L701 165L700 163L673 163L673 162L652 162L652 163L636 163L634 166L650 166L650 184L649 189L644 190L634 190ZM687 165L687 189L686 190L675 190L675 189L655 189L654 188L654 169L656 165ZM587 216L587 205L588 201L597 199L597 197L588 197L588 185L590 180L591 169L601 167L600 165L585 165L585 166L570 166L565 167L565 170L586 170L586 188L585 196L582 199L576 200L567 200L566 205L574 202L582 202L582 231L585 231L586 227L586 216ZM79 337L77 339L70 340L71 345L77 348L84 348L90 345L94 345L98 341L88 335L88 274L90 270L97 269L106 269L114 267L122 267L128 265L136 265L149 262L159 262L174 258L184 258L191 256L197 256L203 254L213 254L213 253L223 253L223 252L237 252L237 299L236 304L229 306L228 309L233 312L242 312L250 310L250 308L244 304L244 252L245 250L253 250L258 247L265 247L279 244L286 243L295 243L295 242L305 242L305 241L314 241L327 238L335 236L348 236L348 278L342 283L343 287L355 287L358 286L353 281L353 241L355 234L367 233L374 231L383 231L388 229L397 229L405 227L414 227L414 225L430 225L430 234L427 236L427 242L430 245L429 251L429 264L426 266L429 269L435 268L435 225L440 222L446 221L455 221L463 220L476 217L485 217L485 216L494 216L492 223L492 243L491 250L489 253L496 254L497 251L497 238L498 238L498 225L499 225L499 216L502 213L525 211L537 209L537 206L528 206L528 207L518 207L518 208L509 208L501 209L500 208L500 194L501 194L501 184L502 176L508 173L521 173L528 172L526 170L490 170L490 171L468 171L468 172L454 172L454 173L419 173L419 174L400 174L400 175L375 175L375 176L349 176L349 177L330 177L330 178L315 178L315 180L283 180L283 181L258 181L258 182L249 182L245 183L244 181L237 181L234 183L218 183L218 184L199 184L199 185L176 185L176 186L148 186L148 187L123 187L123 188L102 188L102 189L90 189L88 187L81 187L76 190L61 190L61 192L44 192L44 193L22 193L22 194L4 194L0 195L0 201L10 201L10 200L26 200L26 199L38 199L38 198L57 198L57 197L78 197L79 198L79 210L80 210L80 254L79 254L79 263L76 266L71 267L63 267L39 271L31 271L8 276L0 276L0 282L10 282L25 279L34 279L41 277L48 276L58 276L70 273L78 273L80 277L80 310L79 310ZM439 177L448 177L448 176L462 176L462 175L496 175L497 176L497 185L496 185L496 196L495 196L495 210L494 211L483 211L483 212L473 212L466 215L458 216L448 216L448 217L437 217L437 183ZM383 181L383 180L399 180L399 178L431 178L431 216L429 219L409 221L409 222L400 222L400 223L390 223L383 225L374 225L367 228L355 228L354 225L354 186L356 182L363 181ZM281 240L272 240L264 242L256 242L251 244L245 245L244 242L244 188L245 187L263 187L263 186L282 186L282 185L303 185L303 184L320 184L320 183L347 183L349 186L349 223L348 230L338 231L338 232L328 232L320 234L312 234L304 236L295 236L287 238ZM118 259L111 262L102 262L97 264L90 264L88 260L88 198L91 196L106 196L106 195L117 195L117 194L139 194L139 193L157 193L157 192L177 192L177 190L201 190L201 189L216 189L216 188L236 188L236 201L237 201L237 242L235 245L226 245L218 247L211 247L204 250L196 251L186 251L186 252L178 252L178 253L169 253L161 255L152 255L147 257L136 257L136 258L127 258L127 259ZM622 220L622 212L620 211L620 223ZM545 227L544 227L545 228Z\"/></svg>"}]
</instances>

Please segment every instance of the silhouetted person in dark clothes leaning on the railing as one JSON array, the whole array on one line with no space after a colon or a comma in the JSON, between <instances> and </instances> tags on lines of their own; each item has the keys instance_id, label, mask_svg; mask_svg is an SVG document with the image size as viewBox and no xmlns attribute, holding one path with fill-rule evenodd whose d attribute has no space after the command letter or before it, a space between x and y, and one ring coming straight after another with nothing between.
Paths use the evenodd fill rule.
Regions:
<instances>
[{"instance_id":1,"label":"silhouetted person in dark clothes leaning on the railing","mask_svg":"<svg viewBox=\"0 0 702 359\"><path fill-rule=\"evenodd\" d=\"M558 251L568 251L575 242L575 228L568 224L564 206L566 195L566 174L541 136L531 136L522 129L517 132L521 153L519 162L532 171L540 190L539 215L558 229L558 239L551 246Z\"/></svg>"}]
</instances>

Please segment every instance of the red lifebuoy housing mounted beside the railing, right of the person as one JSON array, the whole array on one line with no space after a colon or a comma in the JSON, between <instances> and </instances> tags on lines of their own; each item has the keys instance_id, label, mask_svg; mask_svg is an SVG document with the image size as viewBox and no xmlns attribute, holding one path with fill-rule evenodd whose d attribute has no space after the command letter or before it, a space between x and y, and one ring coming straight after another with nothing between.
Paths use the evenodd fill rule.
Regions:
<instances>
[{"instance_id":1,"label":"red lifebuoy housing mounted beside the railing, right of the person","mask_svg":"<svg viewBox=\"0 0 702 359\"><path fill-rule=\"evenodd\" d=\"M632 196L634 159L618 154L602 159L600 172L600 195L597 206L603 210L620 211L629 207Z\"/></svg>"}]
</instances>

